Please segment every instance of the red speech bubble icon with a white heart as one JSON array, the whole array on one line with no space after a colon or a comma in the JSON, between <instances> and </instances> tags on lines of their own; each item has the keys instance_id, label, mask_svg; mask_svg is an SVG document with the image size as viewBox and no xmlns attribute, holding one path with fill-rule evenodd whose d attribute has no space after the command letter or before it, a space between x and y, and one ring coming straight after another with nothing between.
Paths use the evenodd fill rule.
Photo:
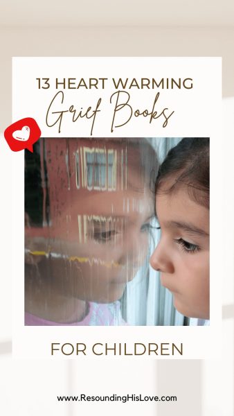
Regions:
<instances>
[{"instance_id":1,"label":"red speech bubble icon with a white heart","mask_svg":"<svg viewBox=\"0 0 234 416\"><path fill-rule=\"evenodd\" d=\"M27 117L9 125L4 137L13 152L28 149L33 153L33 144L41 137L41 130L35 119Z\"/></svg>"}]
</instances>

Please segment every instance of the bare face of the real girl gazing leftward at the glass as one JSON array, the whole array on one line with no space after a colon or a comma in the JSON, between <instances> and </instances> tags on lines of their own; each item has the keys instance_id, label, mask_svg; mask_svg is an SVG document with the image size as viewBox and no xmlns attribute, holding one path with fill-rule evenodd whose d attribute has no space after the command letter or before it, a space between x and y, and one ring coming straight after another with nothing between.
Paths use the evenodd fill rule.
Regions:
<instances>
[{"instance_id":1,"label":"bare face of the real girl gazing leftward at the glass","mask_svg":"<svg viewBox=\"0 0 234 416\"><path fill-rule=\"evenodd\" d=\"M161 239L150 264L161 272L161 284L172 292L177 311L208 319L209 210L192 201L186 187L167 194L164 186L156 193Z\"/></svg>"}]
</instances>

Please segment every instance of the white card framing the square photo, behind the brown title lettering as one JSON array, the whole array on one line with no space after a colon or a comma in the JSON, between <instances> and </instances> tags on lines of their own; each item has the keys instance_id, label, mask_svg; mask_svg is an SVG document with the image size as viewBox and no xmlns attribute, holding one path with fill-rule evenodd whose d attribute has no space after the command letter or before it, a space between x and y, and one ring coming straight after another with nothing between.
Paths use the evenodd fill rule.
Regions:
<instances>
[{"instance_id":1,"label":"white card framing the square photo, behind the brown title lettering","mask_svg":"<svg viewBox=\"0 0 234 416\"><path fill-rule=\"evenodd\" d=\"M174 359L174 358L217 358L220 355L221 345L221 287L220 276L222 276L222 247L217 241L222 241L222 227L217 227L217 218L222 218L222 198L217 189L222 189L222 177L217 161L220 154L220 137L221 137L221 59L220 58L15 58L13 61L13 112L12 121L24 118L25 116L34 116L31 110L31 94L34 94L37 107L33 108L35 114L42 112L43 103L36 101L36 92L30 88L30 80L33 77L33 67L37 67L37 74L46 67L51 65L57 67L58 61L64 63L66 68L73 65L74 62L78 67L82 62L91 65L91 60L95 60L96 67L107 67L109 69L116 66L118 60L118 69L123 71L127 68L133 71L136 67L136 59L144 66L151 69L159 68L160 71L170 69L176 73L181 70L193 68L193 73L197 81L195 95L189 101L190 108L188 111L188 101L183 94L177 94L173 91L172 105L178 102L179 108L186 110L186 116L181 124L181 118L174 117L172 126L168 130L159 128L157 137L210 137L210 327L25 327L24 326L24 153L19 152L13 155L13 194L12 207L13 218L12 226L14 229L13 241L13 354L18 358L156 358L156 359ZM46 60L46 62L44 61ZM140 61L139 61L140 60ZM130 65L130 66L129 66ZM132 67L133 65L133 67ZM169 68L168 69L168 65ZM84 64L85 66L85 64ZM51 67L51 68L52 68ZM24 68L24 73L22 69ZM172 71L172 72L173 72ZM75 71L74 71L75 72ZM162 73L162 72L161 72ZM43 76L43 74L42 74ZM170 76L170 75L168 75ZM174 76L174 75L171 75ZM27 78L28 77L28 78ZM21 80L21 83L19 83ZM26 80L27 83L26 83ZM24 92L24 100L22 96ZM169 95L167 94L167 97ZM167 98L168 99L168 98ZM191 107L192 105L192 107ZM30 113L29 113L30 112ZM37 116L35 115L37 120ZM42 130L42 137L50 137L48 130L44 128L43 123L39 123ZM145 137L152 137L151 126L145 125ZM105 127L104 127L105 129ZM66 137L70 136L69 128ZM102 128L100 134L93 137L105 137ZM47 133L47 134L46 134ZM162 134L163 133L163 134ZM50 132L51 137L56 137L55 132ZM103 135L103 136L102 136ZM119 132L118 137L141 137L141 129L138 126L131 130L131 135L126 131ZM64 136L64 132L60 137ZM72 136L71 136L72 137ZM85 137L85 136L84 136ZM109 135L107 136L109 137ZM117 137L117 135L116 135ZM139 335L141 334L141 335ZM51 357L51 343L86 343L87 356L57 356ZM183 343L183 356L93 356L91 346L94 343L127 343L129 350L132 350L134 343Z\"/></svg>"}]
</instances>

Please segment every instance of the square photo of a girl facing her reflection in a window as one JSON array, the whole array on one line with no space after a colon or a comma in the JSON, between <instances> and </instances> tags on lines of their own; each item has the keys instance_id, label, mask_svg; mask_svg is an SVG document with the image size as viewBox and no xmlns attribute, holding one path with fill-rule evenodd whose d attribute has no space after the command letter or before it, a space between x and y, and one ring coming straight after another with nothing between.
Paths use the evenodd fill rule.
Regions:
<instances>
[{"instance_id":1,"label":"square photo of a girl facing her reflection in a window","mask_svg":"<svg viewBox=\"0 0 234 416\"><path fill-rule=\"evenodd\" d=\"M171 169L163 178L161 168L156 223L162 140L164 146L170 138L40 139L33 154L26 152L26 325L189 324L179 312L208 318L208 254L195 232L198 225L208 227L202 211L207 213L207 206L191 198L191 181L189 187L187 180L177 191L167 192L168 184L179 183L181 169ZM193 182L198 194L195 175ZM179 226L171 232L169 225L175 224ZM188 225L193 228L186 229ZM158 271L152 277L150 252L157 238L151 265ZM173 270L171 265L164 268L168 257ZM154 284L157 275L160 287ZM168 289L179 312L172 297L168 299ZM195 308L184 308L190 301Z\"/></svg>"}]
</instances>

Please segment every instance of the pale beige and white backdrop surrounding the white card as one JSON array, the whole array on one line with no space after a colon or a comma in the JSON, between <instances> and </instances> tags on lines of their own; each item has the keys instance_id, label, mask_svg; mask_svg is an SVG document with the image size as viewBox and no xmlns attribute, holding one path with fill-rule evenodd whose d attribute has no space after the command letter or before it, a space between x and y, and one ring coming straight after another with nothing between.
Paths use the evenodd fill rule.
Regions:
<instances>
[{"instance_id":1,"label":"pale beige and white backdrop surrounding the white card","mask_svg":"<svg viewBox=\"0 0 234 416\"><path fill-rule=\"evenodd\" d=\"M11 123L12 56L222 56L226 132L233 135L234 3L233 1L13 1L0 4L0 132ZM89 26L89 27L87 27ZM215 88L215 85L214 85ZM13 163L13 159L11 161ZM9 164L9 172L10 172ZM2 187L8 186L1 170ZM231 172L233 177L233 173ZM230 190L227 191L228 195ZM232 205L231 205L232 206ZM3 261L10 253L10 201L1 207ZM7 225L8 224L8 225ZM231 234L233 229L231 229ZM230 259L229 259L230 260ZM229 261L230 262L230 261ZM224 277L224 356L222 361L51 363L10 359L10 273L1 279L0 338L1 414L82 415L233 415L233 269ZM228 278L227 278L228 277ZM177 395L177 404L57 404L56 395L134 392ZM13 397L15 395L15 404Z\"/></svg>"}]
</instances>

